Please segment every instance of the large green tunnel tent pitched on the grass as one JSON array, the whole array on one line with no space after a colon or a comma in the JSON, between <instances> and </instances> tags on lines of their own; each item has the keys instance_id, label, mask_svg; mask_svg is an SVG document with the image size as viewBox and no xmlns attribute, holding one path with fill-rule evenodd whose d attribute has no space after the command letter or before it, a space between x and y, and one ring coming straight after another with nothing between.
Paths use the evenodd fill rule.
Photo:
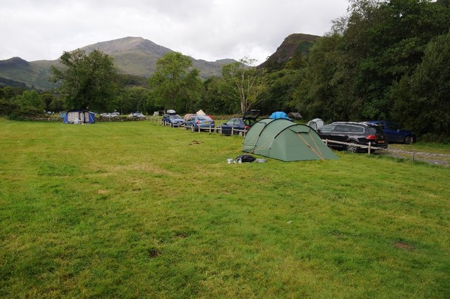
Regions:
<instances>
[{"instance_id":1,"label":"large green tunnel tent pitched on the grass","mask_svg":"<svg viewBox=\"0 0 450 299\"><path fill-rule=\"evenodd\" d=\"M338 159L319 134L284 118L264 119L248 130L243 151L283 161Z\"/></svg>"}]
</instances>

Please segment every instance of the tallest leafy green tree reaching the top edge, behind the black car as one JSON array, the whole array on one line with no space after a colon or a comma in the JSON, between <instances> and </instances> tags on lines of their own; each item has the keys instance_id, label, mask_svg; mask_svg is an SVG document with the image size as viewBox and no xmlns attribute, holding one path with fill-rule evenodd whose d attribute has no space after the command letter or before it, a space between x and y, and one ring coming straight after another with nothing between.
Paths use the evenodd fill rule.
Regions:
<instances>
[{"instance_id":1,"label":"tallest leafy green tree reaching the top edge, behind the black car","mask_svg":"<svg viewBox=\"0 0 450 299\"><path fill-rule=\"evenodd\" d=\"M449 30L449 10L423 0L352 0L342 34L341 89L358 118L390 118L392 82L411 75L430 39Z\"/></svg>"}]
</instances>

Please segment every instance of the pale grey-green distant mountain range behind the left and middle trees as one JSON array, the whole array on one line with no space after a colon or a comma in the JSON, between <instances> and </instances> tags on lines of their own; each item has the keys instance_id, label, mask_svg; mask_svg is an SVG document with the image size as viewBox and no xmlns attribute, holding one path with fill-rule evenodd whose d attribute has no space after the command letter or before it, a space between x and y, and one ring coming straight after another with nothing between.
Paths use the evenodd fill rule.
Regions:
<instances>
[{"instance_id":1,"label":"pale grey-green distant mountain range behind the left and middle trees","mask_svg":"<svg viewBox=\"0 0 450 299\"><path fill-rule=\"evenodd\" d=\"M140 77L150 77L156 70L158 59L172 51L142 37L124 37L108 42L98 42L84 46L82 49L86 53L90 53L94 49L102 51L114 59L120 72ZM234 62L232 59L221 59L214 62L191 59L194 68L200 70L200 76L203 78L221 76L221 67ZM28 87L51 89L55 87L49 82L51 65L58 67L58 60L27 62L22 58L14 57L0 61L0 77L19 83L23 82Z\"/></svg>"}]
</instances>

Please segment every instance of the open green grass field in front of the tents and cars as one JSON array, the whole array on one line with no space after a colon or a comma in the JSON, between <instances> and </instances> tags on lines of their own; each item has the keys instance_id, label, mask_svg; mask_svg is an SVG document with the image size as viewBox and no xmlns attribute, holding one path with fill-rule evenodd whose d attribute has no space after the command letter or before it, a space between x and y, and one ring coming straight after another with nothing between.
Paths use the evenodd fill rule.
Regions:
<instances>
[{"instance_id":1,"label":"open green grass field in front of the tents and cars","mask_svg":"<svg viewBox=\"0 0 450 299\"><path fill-rule=\"evenodd\" d=\"M449 298L449 167L0 119L0 298Z\"/></svg>"}]
</instances>

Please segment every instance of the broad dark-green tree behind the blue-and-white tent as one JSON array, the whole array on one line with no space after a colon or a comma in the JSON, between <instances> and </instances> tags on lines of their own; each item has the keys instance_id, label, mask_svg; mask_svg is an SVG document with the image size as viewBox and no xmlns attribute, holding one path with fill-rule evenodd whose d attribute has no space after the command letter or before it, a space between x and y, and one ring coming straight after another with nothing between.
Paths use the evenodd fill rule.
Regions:
<instances>
[{"instance_id":1,"label":"broad dark-green tree behind the blue-and-white tent","mask_svg":"<svg viewBox=\"0 0 450 299\"><path fill-rule=\"evenodd\" d=\"M103 110L116 90L117 70L113 58L94 50L86 55L77 49L59 59L64 68L52 65L52 82L61 82L60 92L67 108Z\"/></svg>"}]
</instances>

